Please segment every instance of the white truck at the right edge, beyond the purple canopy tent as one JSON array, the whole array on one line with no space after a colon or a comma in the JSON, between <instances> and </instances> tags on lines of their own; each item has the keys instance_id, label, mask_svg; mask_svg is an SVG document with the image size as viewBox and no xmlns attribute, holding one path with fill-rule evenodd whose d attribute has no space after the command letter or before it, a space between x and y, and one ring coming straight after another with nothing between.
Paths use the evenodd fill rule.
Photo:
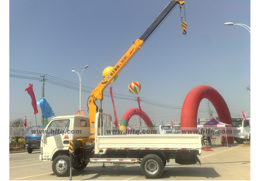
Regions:
<instances>
[{"instance_id":1,"label":"white truck at the right edge, beyond the purple canopy tent","mask_svg":"<svg viewBox=\"0 0 256 181\"><path fill-rule=\"evenodd\" d=\"M251 140L251 119L247 118L243 121L243 118L232 118L234 140L237 143L243 143L244 141Z\"/></svg>"}]
</instances>

